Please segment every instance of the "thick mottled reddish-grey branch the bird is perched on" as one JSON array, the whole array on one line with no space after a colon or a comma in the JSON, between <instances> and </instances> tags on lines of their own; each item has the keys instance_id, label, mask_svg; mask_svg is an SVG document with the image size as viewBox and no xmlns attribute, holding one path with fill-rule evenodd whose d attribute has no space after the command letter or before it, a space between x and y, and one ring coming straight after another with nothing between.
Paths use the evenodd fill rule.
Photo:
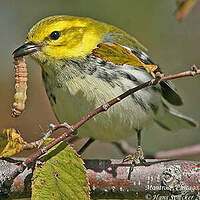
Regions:
<instances>
[{"instance_id":1,"label":"thick mottled reddish-grey branch the bird is perched on","mask_svg":"<svg viewBox=\"0 0 200 200\"><path fill-rule=\"evenodd\" d=\"M200 163L180 160L147 160L150 166L136 166L128 180L130 163L122 160L84 160L93 198L112 199L197 199L200 194ZM10 176L16 163L0 160L0 183ZM30 197L32 169L25 170L1 187L0 199ZM160 197L160 198L158 198Z\"/></svg>"}]
</instances>

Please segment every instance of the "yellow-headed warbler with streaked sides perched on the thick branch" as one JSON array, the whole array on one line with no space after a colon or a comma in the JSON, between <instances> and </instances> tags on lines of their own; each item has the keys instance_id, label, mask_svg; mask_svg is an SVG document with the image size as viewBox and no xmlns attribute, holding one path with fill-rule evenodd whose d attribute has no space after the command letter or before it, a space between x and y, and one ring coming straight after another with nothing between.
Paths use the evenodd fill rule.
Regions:
<instances>
[{"instance_id":1,"label":"yellow-headed warbler with streaked sides perched on the thick branch","mask_svg":"<svg viewBox=\"0 0 200 200\"><path fill-rule=\"evenodd\" d=\"M84 115L162 71L147 49L113 25L88 17L50 16L28 32L15 58L30 55L41 66L42 80L59 123L74 124ZM167 131L197 126L170 104L183 104L171 81L144 88L112 106L79 129L80 137L115 142L137 134L136 152L128 157L145 162L144 128L157 123ZM86 145L87 146L87 145Z\"/></svg>"}]
</instances>

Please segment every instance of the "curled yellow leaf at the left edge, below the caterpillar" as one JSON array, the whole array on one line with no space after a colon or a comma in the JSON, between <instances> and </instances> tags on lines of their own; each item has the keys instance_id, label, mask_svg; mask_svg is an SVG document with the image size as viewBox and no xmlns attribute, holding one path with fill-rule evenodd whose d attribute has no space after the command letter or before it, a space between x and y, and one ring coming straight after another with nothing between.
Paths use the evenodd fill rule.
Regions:
<instances>
[{"instance_id":1,"label":"curled yellow leaf at the left edge, below the caterpillar","mask_svg":"<svg viewBox=\"0 0 200 200\"><path fill-rule=\"evenodd\" d=\"M26 142L15 129L4 129L0 133L0 158L13 156L23 151Z\"/></svg>"}]
</instances>

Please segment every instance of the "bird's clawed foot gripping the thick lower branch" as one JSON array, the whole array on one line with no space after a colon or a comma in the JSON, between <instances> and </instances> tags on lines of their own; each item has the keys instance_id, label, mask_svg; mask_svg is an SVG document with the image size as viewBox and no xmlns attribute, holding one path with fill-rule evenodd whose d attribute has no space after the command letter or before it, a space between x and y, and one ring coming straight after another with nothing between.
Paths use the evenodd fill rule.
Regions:
<instances>
[{"instance_id":1,"label":"bird's clawed foot gripping the thick lower branch","mask_svg":"<svg viewBox=\"0 0 200 200\"><path fill-rule=\"evenodd\" d=\"M134 154L130 154L123 159L123 162L132 160L132 167L138 164L147 165L146 160L144 159L144 153L141 146L138 146Z\"/></svg>"}]
</instances>

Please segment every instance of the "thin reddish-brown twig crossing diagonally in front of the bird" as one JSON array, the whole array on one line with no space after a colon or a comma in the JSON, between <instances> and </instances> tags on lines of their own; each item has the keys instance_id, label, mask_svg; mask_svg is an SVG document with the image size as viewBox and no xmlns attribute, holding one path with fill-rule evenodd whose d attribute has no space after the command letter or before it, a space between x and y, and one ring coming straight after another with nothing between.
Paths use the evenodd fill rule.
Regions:
<instances>
[{"instance_id":1,"label":"thin reddish-brown twig crossing diagonally in front of the bird","mask_svg":"<svg viewBox=\"0 0 200 200\"><path fill-rule=\"evenodd\" d=\"M77 122L75 125L71 126L70 129L68 129L67 131L65 131L61 136L57 137L55 140L53 140L52 142L50 142L46 147L38 150L36 153L32 154L31 156L29 156L21 165L19 165L15 170L13 170L13 172L10 174L10 176L6 177L5 179L5 187L6 186L10 186L10 182L12 182L12 180L19 175L21 172L23 172L26 167L30 166L33 162L35 162L41 155L44 155L49 149L51 149L53 146L55 146L56 144L58 144L61 141L66 140L66 138L70 138L70 135L73 135L75 130L77 130L80 126L82 126L85 122L87 122L89 119L91 119L92 117L94 117L95 115L107 111L111 106L113 106L114 104L120 102L121 100L125 99L127 96L137 92L138 90L141 90L143 88L155 85L157 83L159 83L160 81L165 81L165 80L170 80L170 79L175 79L175 78L182 78L182 77L187 77L187 76L194 76L200 74L200 69L197 69L196 66L193 66L191 68L191 71L186 71L186 72L182 72L182 73L178 73L178 74L174 74L174 75L169 75L169 76L164 76L161 78L161 76L158 76L156 79L152 79L148 82L145 82L135 88L132 88L126 92L124 92L123 94L119 95L118 97L108 101L107 103L105 103L104 105L96 108L95 110L93 110L92 112L90 112L88 115L85 115L79 122ZM61 126L56 126L55 130L58 128L63 128L63 125Z\"/></svg>"}]
</instances>

